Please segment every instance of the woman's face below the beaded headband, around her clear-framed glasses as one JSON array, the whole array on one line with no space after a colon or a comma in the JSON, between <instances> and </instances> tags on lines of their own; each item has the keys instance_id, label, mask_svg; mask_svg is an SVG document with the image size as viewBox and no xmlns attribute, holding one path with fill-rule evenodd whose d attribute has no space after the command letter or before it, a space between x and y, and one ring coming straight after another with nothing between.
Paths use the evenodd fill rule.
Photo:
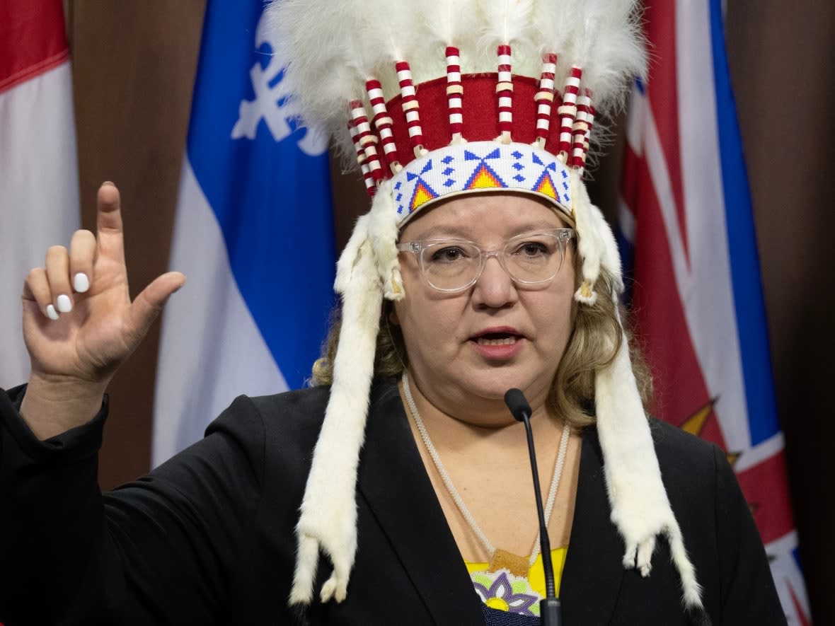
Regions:
<instances>
[{"instance_id":1,"label":"woman's face below the beaded headband, around her clear-framed glasses","mask_svg":"<svg viewBox=\"0 0 835 626\"><path fill-rule=\"evenodd\" d=\"M533 197L473 194L419 215L400 241L450 238L497 250L515 235L564 226ZM401 253L406 297L395 303L392 321L401 326L410 374L423 396L468 422L509 418L504 392L511 387L524 391L534 411L542 406L571 332L572 254L566 246L559 273L534 288L514 284L490 257L475 285L450 294L428 285L416 255Z\"/></svg>"}]
</instances>

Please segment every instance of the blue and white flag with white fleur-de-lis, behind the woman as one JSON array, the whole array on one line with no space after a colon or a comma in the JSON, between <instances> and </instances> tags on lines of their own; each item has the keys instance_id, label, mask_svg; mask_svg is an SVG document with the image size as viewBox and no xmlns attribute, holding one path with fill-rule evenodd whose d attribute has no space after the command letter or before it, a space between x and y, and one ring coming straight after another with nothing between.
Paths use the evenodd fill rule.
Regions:
<instances>
[{"instance_id":1,"label":"blue and white flag with white fleur-de-lis, behind the woman","mask_svg":"<svg viewBox=\"0 0 835 626\"><path fill-rule=\"evenodd\" d=\"M165 308L152 462L235 396L303 386L333 303L326 138L296 128L261 0L206 5Z\"/></svg>"}]
</instances>

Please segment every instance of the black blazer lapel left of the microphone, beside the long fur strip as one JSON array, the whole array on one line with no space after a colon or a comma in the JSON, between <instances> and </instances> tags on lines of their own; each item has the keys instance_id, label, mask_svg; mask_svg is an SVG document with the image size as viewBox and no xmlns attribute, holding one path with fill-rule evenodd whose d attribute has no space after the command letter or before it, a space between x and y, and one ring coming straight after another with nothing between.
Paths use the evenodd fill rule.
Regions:
<instances>
[{"instance_id":1,"label":"black blazer lapel left of the microphone, beside the long fur strip","mask_svg":"<svg viewBox=\"0 0 835 626\"><path fill-rule=\"evenodd\" d=\"M358 487L438 624L483 623L453 534L417 451L397 385L372 391Z\"/></svg>"}]
</instances>

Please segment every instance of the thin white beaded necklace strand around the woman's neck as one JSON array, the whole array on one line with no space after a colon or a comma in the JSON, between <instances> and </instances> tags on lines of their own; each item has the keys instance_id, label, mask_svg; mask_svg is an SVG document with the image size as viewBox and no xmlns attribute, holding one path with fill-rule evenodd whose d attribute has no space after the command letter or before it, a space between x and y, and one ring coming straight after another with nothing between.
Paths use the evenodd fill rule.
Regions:
<instances>
[{"instance_id":1,"label":"thin white beaded necklace strand around the woman's neck","mask_svg":"<svg viewBox=\"0 0 835 626\"><path fill-rule=\"evenodd\" d=\"M403 394L406 396L406 403L409 406L409 411L412 413L412 419L415 421L415 426L417 426L417 432L420 432L420 436L423 439L423 445L426 446L427 452L429 452L429 456L432 457L432 461L435 464L435 469L438 470L438 475L441 477L443 481L443 486L447 487L447 492L453 498L455 505L458 507L458 511L461 512L463 518L467 521L469 527L472 529L475 536L478 538L478 541L481 542L484 549L493 558L493 555L496 553L496 548L493 547L493 543L487 538L487 535L484 534L483 530L478 526L478 523L475 521L475 517L473 514L469 512L467 505L464 504L463 499L461 498L458 490L453 485L452 480L449 478L449 474L447 470L443 467L443 463L441 462L441 457L438 456L438 450L435 449L432 440L429 438L429 433L426 430L426 427L423 425L423 420L421 419L420 413L417 412L417 405L415 405L414 398L412 398L412 390L409 388L409 376L406 370L403 370L402 375L402 383L403 383ZM554 464L554 477L551 478L551 487L548 490L548 501L545 504L545 526L548 526L549 519L551 517L551 512L554 510L554 499L557 496L557 489L559 487L559 477L562 476L563 473L563 466L565 464L565 453L569 447L569 432L571 427L569 427L568 422L565 423L563 427L563 432L559 436L559 454L557 455L557 461ZM529 557L529 567L533 566L536 558L539 556L539 531L536 533L536 539L534 540L534 547L531 549L530 557Z\"/></svg>"}]
</instances>

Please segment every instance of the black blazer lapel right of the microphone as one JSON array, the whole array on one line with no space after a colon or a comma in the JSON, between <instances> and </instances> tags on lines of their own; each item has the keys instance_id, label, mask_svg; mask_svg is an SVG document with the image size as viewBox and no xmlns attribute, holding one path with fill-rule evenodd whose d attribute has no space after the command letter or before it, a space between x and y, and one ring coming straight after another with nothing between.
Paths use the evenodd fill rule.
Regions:
<instances>
[{"instance_id":1,"label":"black blazer lapel right of the microphone","mask_svg":"<svg viewBox=\"0 0 835 626\"><path fill-rule=\"evenodd\" d=\"M559 596L565 623L610 623L624 570L624 543L610 521L603 452L594 427L583 433L577 499Z\"/></svg>"}]
</instances>

